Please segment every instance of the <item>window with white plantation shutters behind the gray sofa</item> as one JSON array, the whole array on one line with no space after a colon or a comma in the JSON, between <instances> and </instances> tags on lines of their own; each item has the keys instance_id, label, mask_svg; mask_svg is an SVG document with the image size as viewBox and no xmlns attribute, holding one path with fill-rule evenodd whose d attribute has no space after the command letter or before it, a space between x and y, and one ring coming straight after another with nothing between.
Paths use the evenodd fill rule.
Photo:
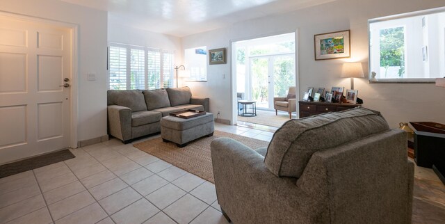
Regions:
<instances>
[{"instance_id":1,"label":"window with white plantation shutters behind the gray sofa","mask_svg":"<svg viewBox=\"0 0 445 224\"><path fill-rule=\"evenodd\" d=\"M154 90L173 87L175 52L111 43L108 88Z\"/></svg>"}]
</instances>

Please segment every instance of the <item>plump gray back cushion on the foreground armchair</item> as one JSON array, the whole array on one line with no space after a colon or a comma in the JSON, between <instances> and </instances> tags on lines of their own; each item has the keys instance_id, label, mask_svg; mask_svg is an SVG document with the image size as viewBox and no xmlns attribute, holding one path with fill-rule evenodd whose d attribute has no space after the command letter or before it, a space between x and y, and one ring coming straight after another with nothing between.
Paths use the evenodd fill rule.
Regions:
<instances>
[{"instance_id":1,"label":"plump gray back cushion on the foreground armchair","mask_svg":"<svg viewBox=\"0 0 445 224\"><path fill-rule=\"evenodd\" d=\"M264 163L278 177L298 178L315 152L388 130L385 118L363 108L289 120L273 134Z\"/></svg>"}]
</instances>

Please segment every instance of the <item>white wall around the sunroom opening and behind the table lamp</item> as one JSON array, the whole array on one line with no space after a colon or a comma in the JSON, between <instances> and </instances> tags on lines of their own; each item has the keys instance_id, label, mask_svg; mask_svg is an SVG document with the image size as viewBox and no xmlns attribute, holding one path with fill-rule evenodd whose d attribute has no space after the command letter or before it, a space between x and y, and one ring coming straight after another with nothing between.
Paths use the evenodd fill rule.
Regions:
<instances>
[{"instance_id":1,"label":"white wall around the sunroom opening and behind the table lamp","mask_svg":"<svg viewBox=\"0 0 445 224\"><path fill-rule=\"evenodd\" d=\"M339 0L292 13L241 22L224 29L183 38L184 49L207 45L207 49L229 48L230 41L286 33L298 29L298 87L300 98L309 86L344 86L341 65L359 61L368 70L368 19L444 6L442 0ZM314 61L314 34L351 30L351 58ZM228 52L228 56L232 55ZM230 120L232 84L230 58L226 65L207 65L207 82L190 83L196 95L210 97L210 111L220 110L220 118ZM223 79L223 74L227 74ZM391 127L399 122L435 121L445 123L445 88L421 83L368 83L355 79L355 89L364 106L381 111Z\"/></svg>"}]
</instances>

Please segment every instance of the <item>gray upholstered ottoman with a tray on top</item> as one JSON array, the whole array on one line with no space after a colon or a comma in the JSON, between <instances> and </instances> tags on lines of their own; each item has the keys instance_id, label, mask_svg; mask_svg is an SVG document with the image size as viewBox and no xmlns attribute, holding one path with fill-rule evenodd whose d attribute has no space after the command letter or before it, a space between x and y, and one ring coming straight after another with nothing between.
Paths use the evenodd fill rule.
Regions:
<instances>
[{"instance_id":1,"label":"gray upholstered ottoman with a tray on top","mask_svg":"<svg viewBox=\"0 0 445 224\"><path fill-rule=\"evenodd\" d=\"M165 116L161 119L161 138L164 142L171 141L184 147L202 136L213 136L213 124L213 113L188 119Z\"/></svg>"}]
</instances>

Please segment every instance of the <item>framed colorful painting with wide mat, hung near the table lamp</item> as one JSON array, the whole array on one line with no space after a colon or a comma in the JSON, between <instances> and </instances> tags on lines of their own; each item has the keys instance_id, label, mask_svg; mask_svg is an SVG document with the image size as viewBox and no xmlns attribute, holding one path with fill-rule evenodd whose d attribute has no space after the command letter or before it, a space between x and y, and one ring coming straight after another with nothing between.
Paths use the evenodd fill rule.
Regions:
<instances>
[{"instance_id":1,"label":"framed colorful painting with wide mat, hung near the table lamp","mask_svg":"<svg viewBox=\"0 0 445 224\"><path fill-rule=\"evenodd\" d=\"M350 57L350 30L314 35L315 60Z\"/></svg>"}]
</instances>

